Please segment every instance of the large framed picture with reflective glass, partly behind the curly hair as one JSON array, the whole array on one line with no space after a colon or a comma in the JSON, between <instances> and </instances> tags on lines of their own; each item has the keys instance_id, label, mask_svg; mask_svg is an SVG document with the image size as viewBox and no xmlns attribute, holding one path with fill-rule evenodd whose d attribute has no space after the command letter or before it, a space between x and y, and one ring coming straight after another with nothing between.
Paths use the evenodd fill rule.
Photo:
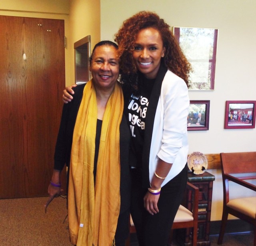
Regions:
<instances>
[{"instance_id":1,"label":"large framed picture with reflective glass, partly behind the curly hair","mask_svg":"<svg viewBox=\"0 0 256 246\"><path fill-rule=\"evenodd\" d=\"M189 90L214 90L218 29L174 27L173 34L192 65Z\"/></svg>"}]
</instances>

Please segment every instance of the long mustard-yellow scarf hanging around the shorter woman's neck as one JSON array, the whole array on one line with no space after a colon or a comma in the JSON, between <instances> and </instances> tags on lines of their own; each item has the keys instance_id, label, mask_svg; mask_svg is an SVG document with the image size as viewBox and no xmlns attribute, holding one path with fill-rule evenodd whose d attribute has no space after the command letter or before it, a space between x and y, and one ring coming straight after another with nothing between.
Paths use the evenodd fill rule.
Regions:
<instances>
[{"instance_id":1,"label":"long mustard-yellow scarf hanging around the shorter woman's neck","mask_svg":"<svg viewBox=\"0 0 256 246\"><path fill-rule=\"evenodd\" d=\"M92 80L84 87L74 127L68 188L70 238L77 246L113 244L120 212L119 130L123 108L122 89L117 82L102 120L94 184L97 101Z\"/></svg>"}]
</instances>

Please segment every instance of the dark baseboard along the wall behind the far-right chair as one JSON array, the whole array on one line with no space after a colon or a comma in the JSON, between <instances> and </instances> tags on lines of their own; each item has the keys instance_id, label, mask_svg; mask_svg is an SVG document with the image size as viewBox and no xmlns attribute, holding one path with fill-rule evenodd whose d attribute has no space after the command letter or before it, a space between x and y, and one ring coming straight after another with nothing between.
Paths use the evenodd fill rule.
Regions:
<instances>
[{"instance_id":1,"label":"dark baseboard along the wall behind the far-right chair","mask_svg":"<svg viewBox=\"0 0 256 246\"><path fill-rule=\"evenodd\" d=\"M218 236L220 233L221 220L210 222L210 236ZM253 225L244 220L228 220L225 234L249 234L254 231Z\"/></svg>"}]
</instances>

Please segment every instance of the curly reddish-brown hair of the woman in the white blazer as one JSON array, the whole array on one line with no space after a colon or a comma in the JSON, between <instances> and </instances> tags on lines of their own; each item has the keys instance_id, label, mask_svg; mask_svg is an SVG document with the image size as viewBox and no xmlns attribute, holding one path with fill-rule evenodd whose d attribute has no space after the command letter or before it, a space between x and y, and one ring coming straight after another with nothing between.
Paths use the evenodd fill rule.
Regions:
<instances>
[{"instance_id":1,"label":"curly reddish-brown hair of the woman in the white blazer","mask_svg":"<svg viewBox=\"0 0 256 246\"><path fill-rule=\"evenodd\" d=\"M123 25L115 34L115 41L118 44L120 56L120 72L124 83L132 84L133 88L138 87L136 79L137 68L132 57L134 42L138 32L144 28L155 28L161 34L165 48L165 66L174 74L189 84L189 72L192 67L184 56L178 42L170 31L170 26L154 12L141 11L123 22Z\"/></svg>"}]
</instances>

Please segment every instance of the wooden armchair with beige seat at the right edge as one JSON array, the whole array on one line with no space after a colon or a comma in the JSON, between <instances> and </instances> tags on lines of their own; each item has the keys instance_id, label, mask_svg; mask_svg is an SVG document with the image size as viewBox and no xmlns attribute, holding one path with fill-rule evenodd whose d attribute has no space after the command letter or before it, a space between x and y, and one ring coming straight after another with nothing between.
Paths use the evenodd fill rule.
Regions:
<instances>
[{"instance_id":1,"label":"wooden armchair with beige seat at the right edge","mask_svg":"<svg viewBox=\"0 0 256 246\"><path fill-rule=\"evenodd\" d=\"M222 244L228 214L232 214L254 226L254 246L256 246L256 197L230 200L228 186L229 182L235 182L256 191L256 186L246 181L256 179L256 152L220 153L220 161L224 198L218 244Z\"/></svg>"}]
</instances>

